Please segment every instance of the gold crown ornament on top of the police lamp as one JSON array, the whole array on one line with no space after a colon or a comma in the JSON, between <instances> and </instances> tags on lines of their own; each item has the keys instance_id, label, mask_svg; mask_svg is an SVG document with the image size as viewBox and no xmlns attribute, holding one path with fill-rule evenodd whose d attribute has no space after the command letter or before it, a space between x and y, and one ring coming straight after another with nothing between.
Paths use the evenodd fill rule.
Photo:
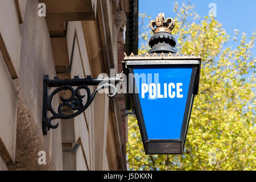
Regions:
<instances>
[{"instance_id":1,"label":"gold crown ornament on top of the police lamp","mask_svg":"<svg viewBox=\"0 0 256 182\"><path fill-rule=\"evenodd\" d=\"M158 32L167 32L171 34L172 29L174 29L174 27L175 27L174 19L172 18L164 19L164 13L158 14L158 17L156 16L155 20L151 20L150 22L150 28L152 29L154 34Z\"/></svg>"}]
</instances>

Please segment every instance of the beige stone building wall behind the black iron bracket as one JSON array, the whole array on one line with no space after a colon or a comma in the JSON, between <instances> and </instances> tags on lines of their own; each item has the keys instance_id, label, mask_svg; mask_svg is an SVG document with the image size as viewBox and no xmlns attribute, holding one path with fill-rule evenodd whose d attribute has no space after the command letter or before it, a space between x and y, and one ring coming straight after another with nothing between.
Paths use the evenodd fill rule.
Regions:
<instances>
[{"instance_id":1,"label":"beige stone building wall behind the black iron bracket","mask_svg":"<svg viewBox=\"0 0 256 182\"><path fill-rule=\"evenodd\" d=\"M46 17L38 16L40 2L46 3ZM97 94L84 113L56 119L59 127L42 133L44 75L62 79L97 77L110 68L119 72L123 48L117 32L122 35L126 17L118 14L126 13L129 1L72 2L0 0L0 170L126 169L124 109L118 98ZM60 95L67 98L70 92ZM54 97L53 108L59 103ZM39 151L46 152L46 164L38 163Z\"/></svg>"}]
</instances>

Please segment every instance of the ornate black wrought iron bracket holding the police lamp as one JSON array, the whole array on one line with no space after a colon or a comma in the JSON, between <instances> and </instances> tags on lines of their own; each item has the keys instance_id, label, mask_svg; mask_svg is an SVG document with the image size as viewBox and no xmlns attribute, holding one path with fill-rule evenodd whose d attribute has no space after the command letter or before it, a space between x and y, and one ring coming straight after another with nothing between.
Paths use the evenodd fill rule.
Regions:
<instances>
[{"instance_id":1,"label":"ornate black wrought iron bracket holding the police lamp","mask_svg":"<svg viewBox=\"0 0 256 182\"><path fill-rule=\"evenodd\" d=\"M49 80L48 75L44 75L43 80L43 116L42 116L42 127L43 127L43 135L47 135L47 131L49 129L56 129L59 126L59 123L56 125L52 125L51 121L53 119L70 119L76 117L81 114L85 109L92 104L94 97L96 96L98 90L104 88L112 88L114 90L113 94L108 94L109 97L115 97L117 95L117 89L115 85L121 81L120 76L112 77L112 78L92 78L91 76L87 76L86 78L79 78L75 76L73 79L64 79L60 80L58 77L55 77L53 80ZM88 86L97 85L97 89L91 94ZM72 86L77 86L74 89ZM53 92L49 95L49 89L52 87L57 87ZM86 103L83 104L82 98L85 95L80 94L80 90L84 89L86 91L87 100ZM52 98L55 94L61 92L62 90L70 90L71 97L63 98L60 96L60 105L55 111L52 107ZM63 107L68 107L69 110L75 111L72 114L64 114ZM48 111L51 112L52 116L48 117Z\"/></svg>"}]
</instances>

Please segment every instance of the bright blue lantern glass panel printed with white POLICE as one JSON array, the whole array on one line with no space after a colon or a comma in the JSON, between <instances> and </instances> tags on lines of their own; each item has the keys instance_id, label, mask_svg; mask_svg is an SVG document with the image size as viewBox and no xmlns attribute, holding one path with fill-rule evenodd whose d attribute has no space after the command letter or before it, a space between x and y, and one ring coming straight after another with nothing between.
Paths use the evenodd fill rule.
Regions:
<instances>
[{"instance_id":1,"label":"bright blue lantern glass panel printed with white POLICE","mask_svg":"<svg viewBox=\"0 0 256 182\"><path fill-rule=\"evenodd\" d=\"M181 139L192 69L133 67L148 139Z\"/></svg>"}]
</instances>

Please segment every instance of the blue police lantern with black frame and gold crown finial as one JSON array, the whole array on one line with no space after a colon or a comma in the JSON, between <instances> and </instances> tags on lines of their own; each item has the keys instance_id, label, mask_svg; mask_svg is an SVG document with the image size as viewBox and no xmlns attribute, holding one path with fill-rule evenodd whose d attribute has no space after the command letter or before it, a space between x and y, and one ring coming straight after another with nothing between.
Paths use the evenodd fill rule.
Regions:
<instances>
[{"instance_id":1,"label":"blue police lantern with black frame and gold crown finial","mask_svg":"<svg viewBox=\"0 0 256 182\"><path fill-rule=\"evenodd\" d=\"M193 100L199 89L201 56L179 54L172 18L160 13L150 26L150 51L125 54L123 70L146 154L183 154Z\"/></svg>"}]
</instances>

